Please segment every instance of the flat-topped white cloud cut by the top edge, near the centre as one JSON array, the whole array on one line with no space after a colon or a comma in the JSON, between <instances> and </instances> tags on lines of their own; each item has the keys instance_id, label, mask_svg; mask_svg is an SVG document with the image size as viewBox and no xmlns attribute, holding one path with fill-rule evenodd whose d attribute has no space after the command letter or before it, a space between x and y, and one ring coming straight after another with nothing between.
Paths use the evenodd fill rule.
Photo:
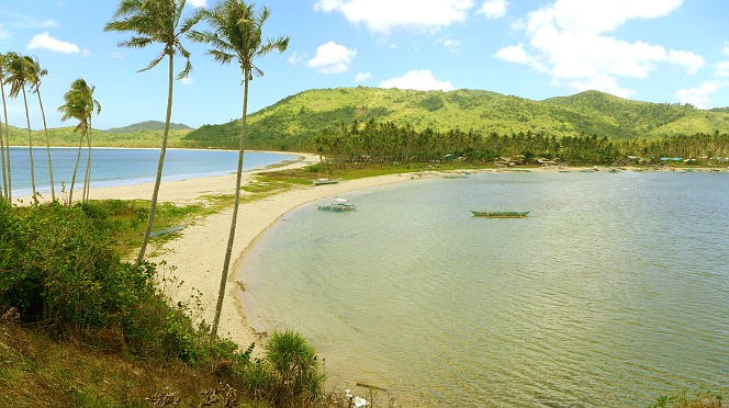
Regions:
<instances>
[{"instance_id":1,"label":"flat-topped white cloud cut by the top edge, near the centre","mask_svg":"<svg viewBox=\"0 0 729 408\"><path fill-rule=\"evenodd\" d=\"M314 10L340 12L352 24L371 32L435 31L463 22L474 0L318 0Z\"/></svg>"}]
</instances>

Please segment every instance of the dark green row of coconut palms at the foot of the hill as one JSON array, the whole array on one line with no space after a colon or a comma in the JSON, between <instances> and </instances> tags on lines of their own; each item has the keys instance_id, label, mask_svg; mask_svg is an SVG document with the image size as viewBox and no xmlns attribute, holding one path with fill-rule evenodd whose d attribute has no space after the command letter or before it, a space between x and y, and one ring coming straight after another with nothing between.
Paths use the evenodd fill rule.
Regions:
<instances>
[{"instance_id":1,"label":"dark green row of coconut palms at the foot of the hill","mask_svg":"<svg viewBox=\"0 0 729 408\"><path fill-rule=\"evenodd\" d=\"M426 127L416 131L410 124L370 120L340 122L335 129L324 128L314 137L313 148L339 167L452 159L490 163L515 158L525 163L543 158L570 166L610 166L630 160L658 163L666 157L717 162L729 157L729 134L717 131L694 136L617 140L585 134L558 138L531 132L484 136L472 129L437 132Z\"/></svg>"}]
</instances>

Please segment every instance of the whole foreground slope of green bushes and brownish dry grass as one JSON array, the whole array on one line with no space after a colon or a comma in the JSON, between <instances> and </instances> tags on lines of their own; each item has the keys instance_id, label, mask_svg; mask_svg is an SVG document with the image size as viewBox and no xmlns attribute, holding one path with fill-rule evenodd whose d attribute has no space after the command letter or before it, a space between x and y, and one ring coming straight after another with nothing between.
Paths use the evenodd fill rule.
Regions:
<instances>
[{"instance_id":1,"label":"whole foreground slope of green bushes and brownish dry grass","mask_svg":"<svg viewBox=\"0 0 729 408\"><path fill-rule=\"evenodd\" d=\"M165 265L121 259L135 207L0 200L0 404L324 404L323 367L301 336L273 333L262 358L253 344L211 341L194 294L169 301Z\"/></svg>"}]
</instances>

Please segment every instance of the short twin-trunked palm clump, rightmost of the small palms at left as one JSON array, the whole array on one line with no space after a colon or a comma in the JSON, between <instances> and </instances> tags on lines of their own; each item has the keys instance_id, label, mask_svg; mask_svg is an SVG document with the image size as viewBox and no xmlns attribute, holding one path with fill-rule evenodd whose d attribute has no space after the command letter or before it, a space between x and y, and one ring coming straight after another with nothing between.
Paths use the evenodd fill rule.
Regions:
<instances>
[{"instance_id":1,"label":"short twin-trunked palm clump, rightmost of the small palms at left","mask_svg":"<svg viewBox=\"0 0 729 408\"><path fill-rule=\"evenodd\" d=\"M76 173L78 172L78 165L81 160L81 148L83 147L83 139L86 138L89 144L89 156L91 155L91 141L89 138L89 132L91 131L91 115L93 111L99 114L101 112L101 104L99 101L93 99L93 91L96 87L89 87L86 81L81 78L77 79L71 83L71 88L64 94L64 103L58 106L58 111L64 113L61 121L67 121L69 118L75 118L78 121L78 125L74 132L80 131L81 136L78 144L78 152L76 154L76 166L74 167L74 174L71 175L71 186L68 192L68 205L74 201L74 186L76 184ZM89 157L86 167L87 167L87 179L90 173L91 158ZM88 183L88 180L85 181L85 184ZM85 185L86 189L86 185ZM81 200L88 200L88 197L82 196Z\"/></svg>"}]
</instances>

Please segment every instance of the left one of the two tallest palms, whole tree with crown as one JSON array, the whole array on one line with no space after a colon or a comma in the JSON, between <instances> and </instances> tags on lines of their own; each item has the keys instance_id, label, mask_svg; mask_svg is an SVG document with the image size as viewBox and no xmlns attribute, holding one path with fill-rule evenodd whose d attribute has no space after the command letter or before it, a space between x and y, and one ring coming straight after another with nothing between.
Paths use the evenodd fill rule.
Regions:
<instances>
[{"instance_id":1,"label":"left one of the two tallest palms, whole tree with crown","mask_svg":"<svg viewBox=\"0 0 729 408\"><path fill-rule=\"evenodd\" d=\"M184 49L180 37L187 34L194 24L200 21L200 15L195 13L192 18L184 20L180 24L182 10L186 0L122 0L116 12L114 21L106 23L104 31L133 32L137 35L128 41L119 43L122 47L144 48L154 43L164 45L162 53L141 71L146 71L157 66L165 57L169 57L168 65L168 92L167 92L167 115L165 117L165 131L162 132L161 149L159 150L159 161L157 163L157 178L152 193L152 205L149 207L149 217L147 228L142 240L142 248L137 256L136 263L142 263L144 253L152 234L152 226L155 222L157 211L157 197L159 195L159 184L162 179L162 167L165 166L165 154L167 152L167 137L169 135L169 123L172 116L172 86L175 81L175 55L179 52L187 59L184 69L178 73L177 78L187 77L192 69L190 64L190 53Z\"/></svg>"}]
</instances>

